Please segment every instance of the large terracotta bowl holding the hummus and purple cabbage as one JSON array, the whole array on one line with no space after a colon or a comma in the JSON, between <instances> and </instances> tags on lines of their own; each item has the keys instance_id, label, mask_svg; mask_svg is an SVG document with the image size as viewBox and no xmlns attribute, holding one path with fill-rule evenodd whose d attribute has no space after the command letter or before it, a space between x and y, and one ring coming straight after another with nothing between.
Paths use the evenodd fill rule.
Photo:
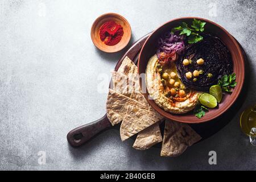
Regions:
<instances>
[{"instance_id":1,"label":"large terracotta bowl holding the hummus and purple cabbage","mask_svg":"<svg viewBox=\"0 0 256 182\"><path fill-rule=\"evenodd\" d=\"M141 53L139 55L138 61L138 71L139 74L145 73L148 60L151 56L155 55L156 53L156 43L159 39L159 36L164 34L164 32L171 31L173 27L177 27L181 22L187 22L188 24L192 24L193 18L203 20L207 24L205 25L205 32L209 32L212 34L217 35L220 39L226 44L228 47L233 60L233 69L234 73L237 75L237 86L234 88L232 94L225 94L221 104L218 105L216 109L209 109L209 112L205 114L205 116L201 119L195 117L192 112L187 114L171 114L167 111L164 111L158 105L155 104L154 100L148 100L148 93L144 93L148 103L156 110L158 113L163 115L164 117L171 119L177 122L183 123L203 123L207 121L211 121L214 118L219 117L223 114L226 110L229 109L232 104L237 100L243 86L244 78L245 78L245 64L243 60L243 55L240 46L233 38L232 35L229 34L224 28L219 26L218 24L211 22L210 20L197 18L197 17L186 17L186 18L178 18L171 20L160 26L156 29L146 40L144 43ZM145 80L141 80L141 85L146 85ZM235 114L235 113L234 113Z\"/></svg>"}]
</instances>

